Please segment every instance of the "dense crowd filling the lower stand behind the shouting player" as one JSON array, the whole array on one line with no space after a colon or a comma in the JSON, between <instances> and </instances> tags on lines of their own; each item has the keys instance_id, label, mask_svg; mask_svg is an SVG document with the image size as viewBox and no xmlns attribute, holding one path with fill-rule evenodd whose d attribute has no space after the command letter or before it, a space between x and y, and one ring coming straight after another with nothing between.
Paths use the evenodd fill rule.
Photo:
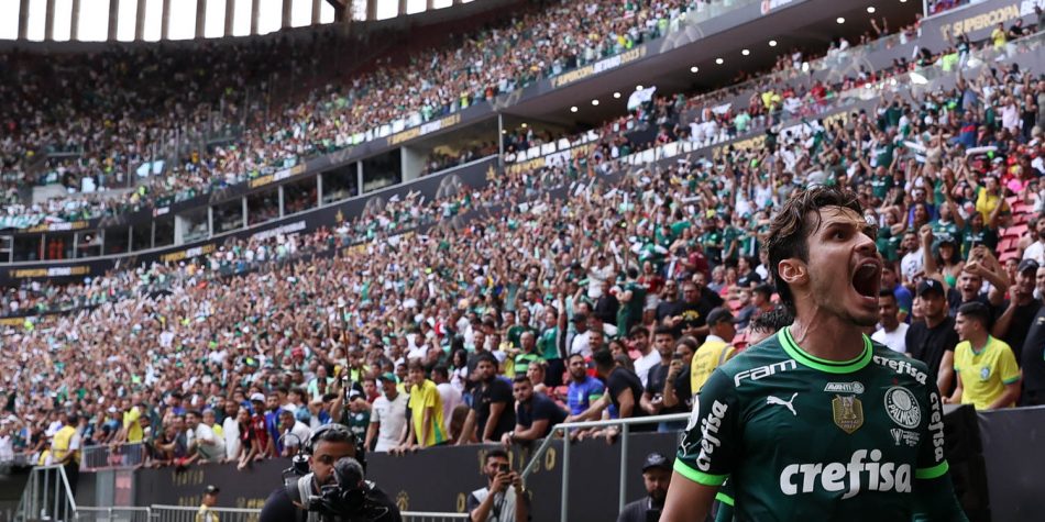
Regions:
<instances>
[{"instance_id":1,"label":"dense crowd filling the lower stand behind the shouting player","mask_svg":"<svg viewBox=\"0 0 1045 522\"><path fill-rule=\"evenodd\" d=\"M688 411L717 364L787 324L760 234L791 192L817 184L857 191L879 227L888 268L869 335L926 362L949 401L1042 403L1045 80L1004 63L977 71L960 55L804 92L760 86L749 108L721 114L708 100L654 98L564 165L177 266L12 289L6 311L68 313L0 338L0 459L62 462L77 444L113 448L105 462L85 453L89 467L246 467L331 421L403 452ZM831 95L948 63L961 71L953 87L887 89L873 111L781 132ZM632 120L662 132L632 144ZM756 129L763 146L624 162ZM1032 218L1013 242L1018 214ZM982 351L991 379L963 379ZM48 441L64 426L76 441L56 456Z\"/></svg>"}]
</instances>

